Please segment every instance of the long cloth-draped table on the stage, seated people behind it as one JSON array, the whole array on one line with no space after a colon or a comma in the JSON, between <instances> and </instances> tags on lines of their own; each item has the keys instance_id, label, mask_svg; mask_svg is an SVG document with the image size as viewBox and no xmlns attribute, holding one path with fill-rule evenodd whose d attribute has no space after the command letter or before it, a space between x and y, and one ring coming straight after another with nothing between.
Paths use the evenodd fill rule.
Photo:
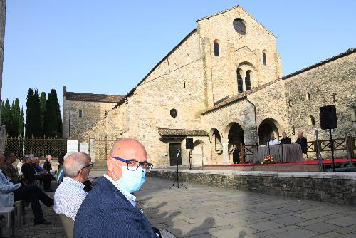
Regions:
<instances>
[{"instance_id":1,"label":"long cloth-draped table on the stage, seated people behind it","mask_svg":"<svg viewBox=\"0 0 356 238\"><path fill-rule=\"evenodd\" d=\"M299 144L270 145L269 152L267 145L258 146L258 160L257 148L253 148L254 163L262 162L266 155L271 155L275 162L303 162L302 148Z\"/></svg>"}]
</instances>

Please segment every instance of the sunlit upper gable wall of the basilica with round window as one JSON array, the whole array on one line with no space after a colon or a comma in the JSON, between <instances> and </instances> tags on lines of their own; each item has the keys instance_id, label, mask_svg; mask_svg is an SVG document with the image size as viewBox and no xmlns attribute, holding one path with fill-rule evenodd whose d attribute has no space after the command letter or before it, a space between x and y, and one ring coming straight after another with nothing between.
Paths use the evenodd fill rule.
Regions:
<instances>
[{"instance_id":1,"label":"sunlit upper gable wall of the basilica with round window","mask_svg":"<svg viewBox=\"0 0 356 238\"><path fill-rule=\"evenodd\" d=\"M247 33L237 33L234 19L244 21ZM242 78L251 70L251 88L273 81L282 75L281 61L276 46L276 36L253 19L241 6L199 19L198 31L204 57L207 83L207 106L237 93L237 68L242 69ZM214 41L219 43L219 56L214 56ZM267 63L263 65L262 52Z\"/></svg>"}]
</instances>

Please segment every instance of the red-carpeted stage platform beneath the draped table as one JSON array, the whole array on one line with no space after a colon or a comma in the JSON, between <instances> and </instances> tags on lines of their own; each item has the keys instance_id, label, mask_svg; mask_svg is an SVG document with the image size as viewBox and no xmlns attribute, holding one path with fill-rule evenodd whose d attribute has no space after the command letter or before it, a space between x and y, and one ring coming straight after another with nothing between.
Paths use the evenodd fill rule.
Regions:
<instances>
[{"instance_id":1,"label":"red-carpeted stage platform beneath the draped table","mask_svg":"<svg viewBox=\"0 0 356 238\"><path fill-rule=\"evenodd\" d=\"M335 159L337 169L342 170L347 165L346 158ZM352 159L356 163L356 158ZM323 167L329 168L331 160L323 160ZM318 172L319 161L308 160L304 162L276 163L276 164L230 164L230 165L204 165L203 170L236 170L236 171L283 171L283 172Z\"/></svg>"}]
</instances>

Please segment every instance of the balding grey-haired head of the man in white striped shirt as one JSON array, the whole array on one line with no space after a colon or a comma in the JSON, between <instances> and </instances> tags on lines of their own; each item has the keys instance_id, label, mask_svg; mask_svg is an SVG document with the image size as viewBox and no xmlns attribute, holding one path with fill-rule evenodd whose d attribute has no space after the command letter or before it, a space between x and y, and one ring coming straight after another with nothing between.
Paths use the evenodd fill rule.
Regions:
<instances>
[{"instance_id":1,"label":"balding grey-haired head of the man in white striped shirt","mask_svg":"<svg viewBox=\"0 0 356 238\"><path fill-rule=\"evenodd\" d=\"M63 163L63 169L66 176L71 178L77 177L78 172L87 165L89 160L90 157L85 152L70 153Z\"/></svg>"}]
</instances>

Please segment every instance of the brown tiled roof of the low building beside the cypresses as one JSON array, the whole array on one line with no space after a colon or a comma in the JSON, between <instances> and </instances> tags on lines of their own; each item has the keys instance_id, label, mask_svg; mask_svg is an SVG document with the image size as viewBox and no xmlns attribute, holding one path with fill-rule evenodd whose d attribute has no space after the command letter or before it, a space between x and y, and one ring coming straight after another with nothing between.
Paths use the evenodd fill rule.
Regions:
<instances>
[{"instance_id":1,"label":"brown tiled roof of the low building beside the cypresses","mask_svg":"<svg viewBox=\"0 0 356 238\"><path fill-rule=\"evenodd\" d=\"M79 100L79 101L101 102L101 103L118 103L123 98L122 95L74 93L74 92L64 92L63 96L65 96L67 100Z\"/></svg>"}]
</instances>

